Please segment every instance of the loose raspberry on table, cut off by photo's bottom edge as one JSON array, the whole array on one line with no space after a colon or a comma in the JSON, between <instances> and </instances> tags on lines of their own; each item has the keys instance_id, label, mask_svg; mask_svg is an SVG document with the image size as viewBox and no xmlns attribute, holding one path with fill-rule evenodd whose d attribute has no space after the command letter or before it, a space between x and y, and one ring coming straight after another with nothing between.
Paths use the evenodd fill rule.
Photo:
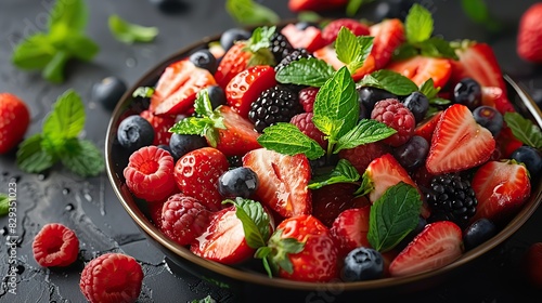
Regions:
<instances>
[{"instance_id":1,"label":"loose raspberry on table, cut off by photo's bottom edge","mask_svg":"<svg viewBox=\"0 0 542 303\"><path fill-rule=\"evenodd\" d=\"M111 252L93 259L85 266L79 288L91 303L136 302L142 282L143 269L136 259Z\"/></svg>"}]
</instances>

